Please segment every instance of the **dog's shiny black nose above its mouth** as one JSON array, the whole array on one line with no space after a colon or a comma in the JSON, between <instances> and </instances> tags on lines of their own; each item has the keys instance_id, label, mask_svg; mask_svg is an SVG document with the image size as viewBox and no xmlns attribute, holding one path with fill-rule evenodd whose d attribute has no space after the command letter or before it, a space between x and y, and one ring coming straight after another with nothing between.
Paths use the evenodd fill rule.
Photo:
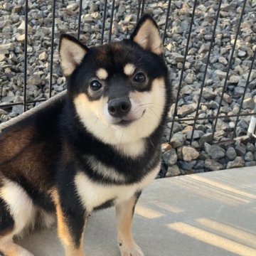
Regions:
<instances>
[{"instance_id":1,"label":"dog's shiny black nose above its mouth","mask_svg":"<svg viewBox=\"0 0 256 256\"><path fill-rule=\"evenodd\" d=\"M108 111L112 117L123 117L131 110L131 102L127 97L120 97L108 102Z\"/></svg>"}]
</instances>

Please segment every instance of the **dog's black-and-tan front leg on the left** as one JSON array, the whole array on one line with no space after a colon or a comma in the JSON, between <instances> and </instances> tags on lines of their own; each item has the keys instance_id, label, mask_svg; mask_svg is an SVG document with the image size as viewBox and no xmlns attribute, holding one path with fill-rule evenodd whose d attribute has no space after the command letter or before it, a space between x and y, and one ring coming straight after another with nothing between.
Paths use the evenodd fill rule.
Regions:
<instances>
[{"instance_id":1,"label":"dog's black-and-tan front leg on the left","mask_svg":"<svg viewBox=\"0 0 256 256\"><path fill-rule=\"evenodd\" d=\"M83 250L83 234L85 230L85 210L80 204L69 205L67 198L63 202L55 194L58 235L65 247L65 256L85 256Z\"/></svg>"}]
</instances>

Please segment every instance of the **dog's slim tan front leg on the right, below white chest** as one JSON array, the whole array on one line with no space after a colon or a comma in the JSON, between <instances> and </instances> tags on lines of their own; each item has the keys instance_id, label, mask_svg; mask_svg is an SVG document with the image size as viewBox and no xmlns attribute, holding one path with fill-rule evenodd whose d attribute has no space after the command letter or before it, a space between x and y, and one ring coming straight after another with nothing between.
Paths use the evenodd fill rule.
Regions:
<instances>
[{"instance_id":1,"label":"dog's slim tan front leg on the right, below white chest","mask_svg":"<svg viewBox=\"0 0 256 256\"><path fill-rule=\"evenodd\" d=\"M122 256L144 256L141 248L132 237L132 217L140 193L136 193L128 201L116 206L117 240Z\"/></svg>"}]
</instances>

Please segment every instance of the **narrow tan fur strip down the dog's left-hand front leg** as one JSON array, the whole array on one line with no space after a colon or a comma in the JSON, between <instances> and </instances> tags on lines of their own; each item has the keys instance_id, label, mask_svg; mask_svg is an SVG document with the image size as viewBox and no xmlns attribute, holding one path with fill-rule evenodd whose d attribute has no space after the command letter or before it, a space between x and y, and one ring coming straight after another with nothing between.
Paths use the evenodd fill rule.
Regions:
<instances>
[{"instance_id":1,"label":"narrow tan fur strip down the dog's left-hand front leg","mask_svg":"<svg viewBox=\"0 0 256 256\"><path fill-rule=\"evenodd\" d=\"M75 248L56 190L53 190L52 197L56 208L58 236L65 247L65 256L84 256L82 238L80 238L80 247Z\"/></svg>"}]
</instances>

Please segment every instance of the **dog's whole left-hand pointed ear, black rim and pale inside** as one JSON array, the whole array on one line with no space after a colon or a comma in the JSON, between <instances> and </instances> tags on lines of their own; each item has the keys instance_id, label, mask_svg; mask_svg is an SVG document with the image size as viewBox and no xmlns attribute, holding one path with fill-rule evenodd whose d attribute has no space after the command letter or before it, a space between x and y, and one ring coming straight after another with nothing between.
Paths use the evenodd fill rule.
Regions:
<instances>
[{"instance_id":1,"label":"dog's whole left-hand pointed ear, black rim and pale inside","mask_svg":"<svg viewBox=\"0 0 256 256\"><path fill-rule=\"evenodd\" d=\"M73 36L68 34L60 35L60 66L65 76L71 75L75 68L82 63L82 59L88 50L86 46Z\"/></svg>"}]
</instances>

